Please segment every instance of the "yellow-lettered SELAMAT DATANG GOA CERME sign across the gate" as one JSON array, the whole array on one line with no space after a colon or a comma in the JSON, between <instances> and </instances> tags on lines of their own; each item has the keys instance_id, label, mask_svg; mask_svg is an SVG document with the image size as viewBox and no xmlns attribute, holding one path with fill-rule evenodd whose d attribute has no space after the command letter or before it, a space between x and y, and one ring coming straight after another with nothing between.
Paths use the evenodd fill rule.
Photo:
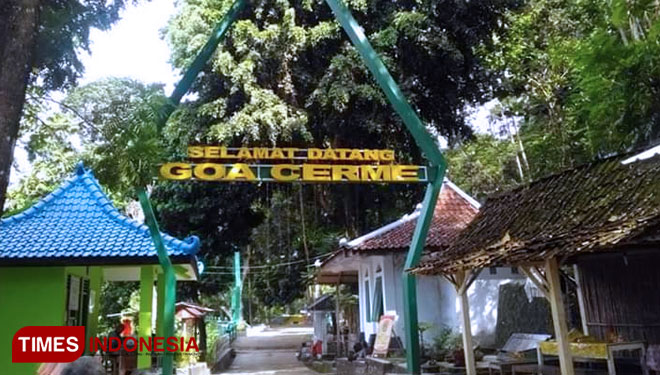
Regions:
<instances>
[{"instance_id":1,"label":"yellow-lettered SELAMAT DATANG GOA CERME sign across the gate","mask_svg":"<svg viewBox=\"0 0 660 375\"><path fill-rule=\"evenodd\" d=\"M395 164L393 150L189 146L188 160L163 164L160 176L219 182L418 183L430 179L424 166Z\"/></svg>"}]
</instances>

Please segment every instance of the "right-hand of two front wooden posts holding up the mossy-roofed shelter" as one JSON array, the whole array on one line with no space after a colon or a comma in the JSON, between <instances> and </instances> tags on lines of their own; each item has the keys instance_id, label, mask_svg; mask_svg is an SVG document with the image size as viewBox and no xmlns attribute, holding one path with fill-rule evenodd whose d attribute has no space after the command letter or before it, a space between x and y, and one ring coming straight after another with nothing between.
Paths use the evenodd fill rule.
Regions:
<instances>
[{"instance_id":1,"label":"right-hand of two front wooden posts holding up the mossy-roofed shelter","mask_svg":"<svg viewBox=\"0 0 660 375\"><path fill-rule=\"evenodd\" d=\"M566 310L561 296L561 283L559 282L559 264L557 258L546 259L545 277L550 289L550 309L552 310L552 324L555 329L557 348L559 351L559 367L562 375L574 375L573 356L568 341L568 327L566 325Z\"/></svg>"}]
</instances>

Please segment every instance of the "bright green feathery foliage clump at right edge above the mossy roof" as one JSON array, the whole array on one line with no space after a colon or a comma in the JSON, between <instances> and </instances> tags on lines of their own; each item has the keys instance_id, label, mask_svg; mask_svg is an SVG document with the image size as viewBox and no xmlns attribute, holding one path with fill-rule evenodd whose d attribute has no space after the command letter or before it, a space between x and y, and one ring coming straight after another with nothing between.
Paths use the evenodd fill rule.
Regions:
<instances>
[{"instance_id":1,"label":"bright green feathery foliage clump at right edge above the mossy roof","mask_svg":"<svg viewBox=\"0 0 660 375\"><path fill-rule=\"evenodd\" d=\"M660 28L656 18L651 28ZM649 30L651 31L651 30ZM576 43L567 110L595 155L648 144L660 135L660 39L598 29Z\"/></svg>"}]
</instances>

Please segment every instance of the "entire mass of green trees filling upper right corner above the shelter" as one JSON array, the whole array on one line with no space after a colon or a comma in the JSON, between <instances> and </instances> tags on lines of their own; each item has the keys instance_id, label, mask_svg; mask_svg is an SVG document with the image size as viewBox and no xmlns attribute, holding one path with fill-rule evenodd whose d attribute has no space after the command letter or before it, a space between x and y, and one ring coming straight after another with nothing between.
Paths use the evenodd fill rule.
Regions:
<instances>
[{"instance_id":1,"label":"entire mass of green trees filling upper right corner above the shelter","mask_svg":"<svg viewBox=\"0 0 660 375\"><path fill-rule=\"evenodd\" d=\"M657 2L529 0L482 49L532 177L657 142Z\"/></svg>"}]
</instances>

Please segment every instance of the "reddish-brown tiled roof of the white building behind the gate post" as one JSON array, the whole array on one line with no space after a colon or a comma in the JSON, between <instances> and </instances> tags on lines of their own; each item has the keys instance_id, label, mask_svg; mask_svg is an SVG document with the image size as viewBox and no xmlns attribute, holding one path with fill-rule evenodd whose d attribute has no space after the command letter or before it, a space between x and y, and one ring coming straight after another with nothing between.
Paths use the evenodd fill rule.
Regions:
<instances>
[{"instance_id":1,"label":"reddish-brown tiled roof of the white building behind the gate post","mask_svg":"<svg viewBox=\"0 0 660 375\"><path fill-rule=\"evenodd\" d=\"M348 242L354 251L407 250L412 241L419 209L384 227ZM448 180L442 185L426 238L426 250L447 248L479 211L479 203Z\"/></svg>"}]
</instances>

